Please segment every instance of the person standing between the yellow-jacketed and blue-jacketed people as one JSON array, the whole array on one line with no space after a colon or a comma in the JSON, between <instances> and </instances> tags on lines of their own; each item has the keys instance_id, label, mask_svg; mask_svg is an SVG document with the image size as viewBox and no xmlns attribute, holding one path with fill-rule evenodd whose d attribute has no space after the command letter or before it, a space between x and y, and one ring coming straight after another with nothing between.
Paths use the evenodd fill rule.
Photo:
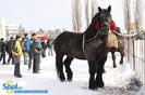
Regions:
<instances>
[{"instance_id":1,"label":"person standing between the yellow-jacketed and blue-jacketed people","mask_svg":"<svg viewBox=\"0 0 145 95\"><path fill-rule=\"evenodd\" d=\"M28 64L28 53L27 53L27 50L26 50L26 41L27 41L27 38L23 38L23 41L22 41L22 51L23 51L23 57L24 57L24 65L27 65Z\"/></svg>"}]
</instances>

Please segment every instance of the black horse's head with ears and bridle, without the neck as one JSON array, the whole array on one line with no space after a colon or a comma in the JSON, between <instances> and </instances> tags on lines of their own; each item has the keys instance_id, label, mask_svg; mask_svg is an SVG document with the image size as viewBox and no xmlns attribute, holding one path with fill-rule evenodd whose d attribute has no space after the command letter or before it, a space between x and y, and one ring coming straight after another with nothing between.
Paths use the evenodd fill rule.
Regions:
<instances>
[{"instance_id":1,"label":"black horse's head with ears and bridle, without the neck","mask_svg":"<svg viewBox=\"0 0 145 95\"><path fill-rule=\"evenodd\" d=\"M109 5L108 9L101 9L98 6L98 11L99 11L98 23L100 28L99 35L108 36L111 26L111 14L110 14L111 6Z\"/></svg>"}]
</instances>

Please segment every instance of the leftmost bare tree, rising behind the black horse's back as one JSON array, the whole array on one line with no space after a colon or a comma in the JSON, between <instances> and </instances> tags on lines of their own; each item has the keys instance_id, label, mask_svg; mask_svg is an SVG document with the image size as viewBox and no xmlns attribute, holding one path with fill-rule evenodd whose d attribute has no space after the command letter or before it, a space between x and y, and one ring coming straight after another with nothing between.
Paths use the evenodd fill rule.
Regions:
<instances>
[{"instance_id":1,"label":"leftmost bare tree, rising behind the black horse's back","mask_svg":"<svg viewBox=\"0 0 145 95\"><path fill-rule=\"evenodd\" d=\"M78 32L82 28L82 5L81 0L72 0L72 28Z\"/></svg>"}]
</instances>

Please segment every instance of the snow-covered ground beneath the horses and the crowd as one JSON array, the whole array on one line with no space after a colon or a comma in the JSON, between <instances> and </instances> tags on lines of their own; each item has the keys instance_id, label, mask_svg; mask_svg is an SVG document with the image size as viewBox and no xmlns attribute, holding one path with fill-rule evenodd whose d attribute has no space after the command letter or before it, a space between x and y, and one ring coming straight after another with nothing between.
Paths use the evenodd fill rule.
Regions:
<instances>
[{"instance_id":1,"label":"snow-covered ground beneath the horses and the crowd","mask_svg":"<svg viewBox=\"0 0 145 95\"><path fill-rule=\"evenodd\" d=\"M117 63L119 63L119 54L117 54ZM124 59L125 60L125 59ZM57 78L55 67L55 56L41 58L40 73L36 74L27 70L27 65L21 64L21 72L23 78L13 76L13 65L0 65L0 95L37 95L37 94L8 94L3 90L3 83L11 80L13 84L17 83L22 90L47 90L46 94L38 95L145 95L145 89L138 92L137 76L133 72L129 64L124 62L123 66L118 64L117 68L112 68L110 54L106 63L104 73L105 87L96 91L88 90L88 66L86 60L74 59L72 62L73 81L60 82ZM136 81L136 82L134 82ZM135 83L135 84L133 84Z\"/></svg>"}]
</instances>

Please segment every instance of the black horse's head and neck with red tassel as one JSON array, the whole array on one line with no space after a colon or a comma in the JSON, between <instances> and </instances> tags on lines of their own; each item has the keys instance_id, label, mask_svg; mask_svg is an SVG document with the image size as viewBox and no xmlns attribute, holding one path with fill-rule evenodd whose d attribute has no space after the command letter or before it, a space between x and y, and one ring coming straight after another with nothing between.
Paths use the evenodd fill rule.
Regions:
<instances>
[{"instance_id":1,"label":"black horse's head and neck with red tassel","mask_svg":"<svg viewBox=\"0 0 145 95\"><path fill-rule=\"evenodd\" d=\"M101 9L98 6L98 13L92 19L90 25L85 31L85 39L92 39L96 33L101 38L108 37L110 25L111 25L111 6L108 9Z\"/></svg>"}]
</instances>

